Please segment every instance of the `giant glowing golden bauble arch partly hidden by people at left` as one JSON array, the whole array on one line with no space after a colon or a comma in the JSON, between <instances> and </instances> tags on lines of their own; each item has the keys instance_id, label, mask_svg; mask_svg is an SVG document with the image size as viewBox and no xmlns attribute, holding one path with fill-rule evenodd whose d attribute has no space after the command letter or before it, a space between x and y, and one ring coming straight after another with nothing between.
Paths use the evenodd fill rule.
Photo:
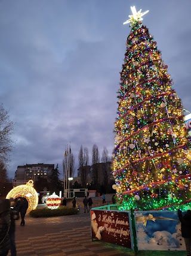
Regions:
<instances>
[{"instance_id":1,"label":"giant glowing golden bauble arch partly hidden by people at left","mask_svg":"<svg viewBox=\"0 0 191 256\"><path fill-rule=\"evenodd\" d=\"M33 180L29 180L26 185L19 185L11 189L7 194L7 199L13 197L25 197L29 203L29 209L34 210L38 206L38 194L33 188Z\"/></svg>"}]
</instances>

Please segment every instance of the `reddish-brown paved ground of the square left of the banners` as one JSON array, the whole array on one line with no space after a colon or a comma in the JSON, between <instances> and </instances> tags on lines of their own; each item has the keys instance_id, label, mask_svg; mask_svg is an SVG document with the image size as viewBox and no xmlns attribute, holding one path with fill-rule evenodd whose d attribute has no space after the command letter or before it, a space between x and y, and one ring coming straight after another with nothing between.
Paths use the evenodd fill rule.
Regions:
<instances>
[{"instance_id":1,"label":"reddish-brown paved ground of the square left of the banners","mask_svg":"<svg viewBox=\"0 0 191 256\"><path fill-rule=\"evenodd\" d=\"M25 216L25 226L16 221L17 256L115 256L134 255L126 248L91 240L90 213L51 218ZM8 256L10 256L10 252Z\"/></svg>"}]
</instances>

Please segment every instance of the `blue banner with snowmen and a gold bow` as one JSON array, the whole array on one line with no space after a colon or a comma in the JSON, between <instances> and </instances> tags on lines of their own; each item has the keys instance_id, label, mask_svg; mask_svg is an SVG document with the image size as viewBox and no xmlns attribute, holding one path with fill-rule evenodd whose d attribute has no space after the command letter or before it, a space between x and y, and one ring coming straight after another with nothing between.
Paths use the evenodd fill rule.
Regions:
<instances>
[{"instance_id":1,"label":"blue banner with snowmen and a gold bow","mask_svg":"<svg viewBox=\"0 0 191 256\"><path fill-rule=\"evenodd\" d=\"M184 251L177 211L134 212L139 251Z\"/></svg>"}]
</instances>

